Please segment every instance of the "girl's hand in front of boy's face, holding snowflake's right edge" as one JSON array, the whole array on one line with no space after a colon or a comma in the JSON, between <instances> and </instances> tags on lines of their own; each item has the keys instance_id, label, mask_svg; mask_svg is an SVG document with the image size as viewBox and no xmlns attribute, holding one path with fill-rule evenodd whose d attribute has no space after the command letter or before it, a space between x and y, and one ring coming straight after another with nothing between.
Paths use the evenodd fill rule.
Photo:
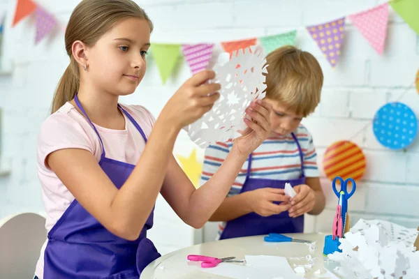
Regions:
<instances>
[{"instance_id":1,"label":"girl's hand in front of boy's face, holding snowflake's right edge","mask_svg":"<svg viewBox=\"0 0 419 279\"><path fill-rule=\"evenodd\" d=\"M247 124L246 130L240 132L242 136L237 137L233 142L233 149L243 156L249 156L264 140L271 131L270 112L272 105L264 100L252 102L246 109L246 114L253 120L247 118L244 122Z\"/></svg>"}]
</instances>

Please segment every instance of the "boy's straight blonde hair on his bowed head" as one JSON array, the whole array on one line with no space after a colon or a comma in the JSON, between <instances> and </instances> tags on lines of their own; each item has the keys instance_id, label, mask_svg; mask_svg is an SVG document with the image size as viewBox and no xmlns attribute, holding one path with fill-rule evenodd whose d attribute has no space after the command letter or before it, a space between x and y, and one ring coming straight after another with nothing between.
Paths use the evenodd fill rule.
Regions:
<instances>
[{"instance_id":1,"label":"boy's straight blonde hair on his bowed head","mask_svg":"<svg viewBox=\"0 0 419 279\"><path fill-rule=\"evenodd\" d=\"M316 58L287 45L270 52L266 60L266 98L304 117L314 112L323 86L323 71Z\"/></svg>"}]
</instances>

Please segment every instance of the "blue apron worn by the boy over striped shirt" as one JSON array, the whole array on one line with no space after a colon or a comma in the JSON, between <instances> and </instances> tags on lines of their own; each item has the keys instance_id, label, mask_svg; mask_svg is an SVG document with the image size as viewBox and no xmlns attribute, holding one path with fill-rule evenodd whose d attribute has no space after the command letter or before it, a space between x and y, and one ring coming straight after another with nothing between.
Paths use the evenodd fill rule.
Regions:
<instances>
[{"instance_id":1,"label":"blue apron worn by the boy over striped shirt","mask_svg":"<svg viewBox=\"0 0 419 279\"><path fill-rule=\"evenodd\" d=\"M260 188L277 188L284 189L285 183L290 183L291 186L297 186L305 183L304 176L304 156L300 144L298 143L297 137L294 133L291 133L295 143L297 144L298 151L300 153L301 160L301 173L302 176L298 179L289 179L289 180L274 180L274 179L251 179L250 170L251 170L251 158L252 154L249 156L249 163L247 166L246 181L242 186L240 193L247 191L252 191ZM278 202L275 202L279 204ZM254 236L260 234L270 234L275 232L278 234L283 233L293 233L293 232L303 232L304 230L304 215L291 218L288 215L288 211L281 212L276 215L263 217L257 213L251 212L244 216L240 216L234 220L227 222L226 227L224 228L220 239L231 239L234 237L242 236Z\"/></svg>"}]
</instances>

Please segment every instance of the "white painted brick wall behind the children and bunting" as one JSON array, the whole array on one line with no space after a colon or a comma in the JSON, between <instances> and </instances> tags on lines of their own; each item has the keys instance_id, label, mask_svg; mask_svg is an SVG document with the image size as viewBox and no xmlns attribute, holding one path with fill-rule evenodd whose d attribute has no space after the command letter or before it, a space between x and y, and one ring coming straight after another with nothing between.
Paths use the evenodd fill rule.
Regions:
<instances>
[{"instance_id":1,"label":"white painted brick wall behind the children and bunting","mask_svg":"<svg viewBox=\"0 0 419 279\"><path fill-rule=\"evenodd\" d=\"M38 3L65 24L78 0L38 0ZM349 201L352 222L358 218L382 218L409 227L419 225L415 202L419 196L419 143L404 151L384 149L375 140L370 119L387 101L397 100L413 81L419 65L418 36L390 8L390 25L385 53L379 56L346 22L346 38L338 66L330 68L321 51L304 30L304 24L318 24L373 7L382 0L142 0L138 1L155 24L154 42L199 43L236 40L298 29L297 46L313 53L325 74L321 105L304 124L314 136L319 163L323 152L336 140L361 146L367 156L367 172ZM33 19L10 29L14 0L0 0L0 11L8 10L7 54L1 64L14 61L13 75L0 75L0 107L3 110L1 162L12 166L10 176L0 176L0 218L16 211L42 211L40 186L36 177L36 137L50 107L54 88L68 64L64 34L35 46ZM164 103L187 77L189 69L179 59L177 72L161 86L153 59L138 91L123 98L124 103L140 103L159 115ZM419 113L415 89L401 99ZM362 130L361 130L362 129ZM355 135L355 133L358 133ZM355 135L355 136L354 136ZM354 137L353 137L354 136ZM186 133L178 137L175 152L189 155ZM198 150L202 160L203 151ZM2 163L4 167L5 163ZM322 176L324 176L321 170ZM330 181L322 178L328 197L324 213L307 218L307 231L330 231L335 213L335 195ZM214 231L214 227L212 227ZM175 216L159 197L156 225L150 237L166 253L193 243L193 229ZM212 236L205 239L212 239Z\"/></svg>"}]
</instances>

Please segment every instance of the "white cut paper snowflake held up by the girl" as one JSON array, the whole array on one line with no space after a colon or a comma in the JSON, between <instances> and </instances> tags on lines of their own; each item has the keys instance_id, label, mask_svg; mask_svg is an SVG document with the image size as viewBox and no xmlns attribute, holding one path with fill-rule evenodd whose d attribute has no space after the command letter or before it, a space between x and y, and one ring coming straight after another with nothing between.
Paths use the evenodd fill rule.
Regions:
<instances>
[{"instance_id":1,"label":"white cut paper snowflake held up by the girl","mask_svg":"<svg viewBox=\"0 0 419 279\"><path fill-rule=\"evenodd\" d=\"M219 100L212 110L185 129L201 148L239 136L237 131L246 128L244 117L249 117L246 108L251 101L265 98L267 64L260 49L238 50L226 61L228 56L227 53L219 56L213 68L216 76L210 81L221 84Z\"/></svg>"}]
</instances>

